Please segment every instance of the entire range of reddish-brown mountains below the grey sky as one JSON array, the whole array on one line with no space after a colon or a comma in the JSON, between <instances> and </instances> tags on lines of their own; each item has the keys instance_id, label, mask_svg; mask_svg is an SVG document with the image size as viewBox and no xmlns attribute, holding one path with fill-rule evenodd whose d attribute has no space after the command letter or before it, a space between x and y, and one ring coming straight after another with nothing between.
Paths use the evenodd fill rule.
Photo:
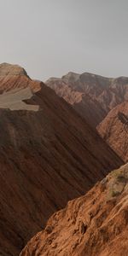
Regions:
<instances>
[{"instance_id":1,"label":"entire range of reddish-brown mountains below the grey sky","mask_svg":"<svg viewBox=\"0 0 128 256\"><path fill-rule=\"evenodd\" d=\"M1 255L104 256L112 234L127 253L127 87L90 73L43 83L0 65Z\"/></svg>"}]
</instances>

